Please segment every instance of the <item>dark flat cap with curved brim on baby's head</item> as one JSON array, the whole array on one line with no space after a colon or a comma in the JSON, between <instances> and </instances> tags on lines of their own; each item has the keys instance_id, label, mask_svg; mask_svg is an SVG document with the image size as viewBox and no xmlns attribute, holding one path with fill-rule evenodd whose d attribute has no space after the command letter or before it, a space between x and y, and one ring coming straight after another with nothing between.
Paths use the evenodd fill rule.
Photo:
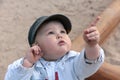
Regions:
<instances>
[{"instance_id":1,"label":"dark flat cap with curved brim on baby's head","mask_svg":"<svg viewBox=\"0 0 120 80\"><path fill-rule=\"evenodd\" d=\"M60 21L63 24L67 34L71 31L71 27L72 27L71 21L62 14L54 14L50 16L39 17L30 27L28 33L28 42L30 46L32 46L32 44L35 42L36 32L41 27L41 25L44 24L45 22L49 22L53 20Z\"/></svg>"}]
</instances>

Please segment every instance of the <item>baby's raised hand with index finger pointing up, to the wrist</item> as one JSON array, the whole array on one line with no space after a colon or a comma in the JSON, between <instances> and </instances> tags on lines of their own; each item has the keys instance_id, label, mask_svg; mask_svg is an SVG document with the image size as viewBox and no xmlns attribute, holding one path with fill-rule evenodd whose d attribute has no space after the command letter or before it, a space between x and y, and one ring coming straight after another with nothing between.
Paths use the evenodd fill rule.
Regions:
<instances>
[{"instance_id":1,"label":"baby's raised hand with index finger pointing up, to the wrist","mask_svg":"<svg viewBox=\"0 0 120 80\"><path fill-rule=\"evenodd\" d=\"M89 46L95 46L100 40L100 33L96 27L96 23L99 21L100 17L90 25L89 28L85 29L83 32L83 38Z\"/></svg>"}]
</instances>

